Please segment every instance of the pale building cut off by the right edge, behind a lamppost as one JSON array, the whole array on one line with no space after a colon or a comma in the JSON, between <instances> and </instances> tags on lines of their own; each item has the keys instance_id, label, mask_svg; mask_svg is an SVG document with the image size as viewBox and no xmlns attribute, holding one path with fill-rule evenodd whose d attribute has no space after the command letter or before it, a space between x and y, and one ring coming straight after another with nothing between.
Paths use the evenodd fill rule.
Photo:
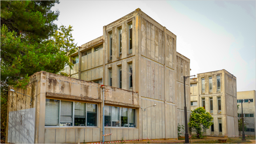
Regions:
<instances>
[{"instance_id":1,"label":"pale building cut off by the right edge, behind a lamppost","mask_svg":"<svg viewBox=\"0 0 256 144\"><path fill-rule=\"evenodd\" d=\"M247 130L244 130L245 135L255 136L255 90L253 91L244 91L237 92L237 105L238 108L238 117L242 117L242 105L243 100L243 114L244 121L246 123ZM250 103L248 101L250 100ZM242 131L241 131L242 135Z\"/></svg>"}]
</instances>

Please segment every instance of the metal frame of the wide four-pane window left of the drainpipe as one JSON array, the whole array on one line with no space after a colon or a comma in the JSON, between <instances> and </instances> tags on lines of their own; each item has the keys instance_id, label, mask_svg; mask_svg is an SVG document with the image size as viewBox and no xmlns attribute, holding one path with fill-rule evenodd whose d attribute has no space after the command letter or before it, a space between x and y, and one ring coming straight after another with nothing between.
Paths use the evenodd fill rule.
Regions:
<instances>
[{"instance_id":1,"label":"metal frame of the wide four-pane window left of the drainpipe","mask_svg":"<svg viewBox=\"0 0 256 144\"><path fill-rule=\"evenodd\" d=\"M98 127L98 122L99 122L99 105L98 103L94 103L94 102L81 102L81 101L77 101L77 100L61 100L61 99L55 99L55 98L48 98L46 97L46 99L50 99L50 100L60 100L60 106L59 106L59 125L58 126L45 126L45 128L51 128L51 127L59 127L59 128L67 128L67 127L80 127L80 128L83 128L83 127ZM61 101L69 101L69 102L72 102L73 104L73 108L72 108L72 112L73 112L73 115L72 115L72 126L60 126L60 111L61 111ZM81 102L81 103L85 103L85 126L75 126L75 102ZM96 105L96 108L97 108L97 111L96 111L96 115L97 115L97 119L96 119L96 124L97 126L87 126L87 103L90 103L90 104L95 104Z\"/></svg>"}]
</instances>

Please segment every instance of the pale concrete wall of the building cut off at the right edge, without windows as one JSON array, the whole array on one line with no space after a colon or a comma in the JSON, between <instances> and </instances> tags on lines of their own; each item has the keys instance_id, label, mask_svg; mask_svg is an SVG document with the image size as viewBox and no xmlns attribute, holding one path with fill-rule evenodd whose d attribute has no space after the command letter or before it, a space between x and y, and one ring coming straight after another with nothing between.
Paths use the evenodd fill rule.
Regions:
<instances>
[{"instance_id":1,"label":"pale concrete wall of the building cut off at the right edge, without windows","mask_svg":"<svg viewBox=\"0 0 256 144\"><path fill-rule=\"evenodd\" d=\"M255 116L255 90L253 91L244 91L244 92L237 92L237 100L243 99L253 99L253 102L250 103L243 103L243 114L254 114L254 117L244 117L244 121L246 123L247 128L254 128L256 130L256 116ZM241 103L237 103L239 108L237 110L238 114L242 114L242 105ZM255 136L255 132L244 132L245 135L248 136Z\"/></svg>"}]
</instances>

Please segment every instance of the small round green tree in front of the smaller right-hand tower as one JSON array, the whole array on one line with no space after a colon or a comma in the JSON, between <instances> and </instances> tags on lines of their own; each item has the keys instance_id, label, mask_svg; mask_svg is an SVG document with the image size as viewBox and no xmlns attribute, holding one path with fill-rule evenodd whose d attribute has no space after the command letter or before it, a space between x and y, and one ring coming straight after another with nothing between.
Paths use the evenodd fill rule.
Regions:
<instances>
[{"instance_id":1,"label":"small round green tree in front of the smaller right-hand tower","mask_svg":"<svg viewBox=\"0 0 256 144\"><path fill-rule=\"evenodd\" d=\"M198 135L197 138L202 137L202 129L209 129L209 127L213 124L213 117L209 112L206 112L203 107L196 108L191 111L190 122L188 123L189 129L191 132L196 132Z\"/></svg>"}]
</instances>

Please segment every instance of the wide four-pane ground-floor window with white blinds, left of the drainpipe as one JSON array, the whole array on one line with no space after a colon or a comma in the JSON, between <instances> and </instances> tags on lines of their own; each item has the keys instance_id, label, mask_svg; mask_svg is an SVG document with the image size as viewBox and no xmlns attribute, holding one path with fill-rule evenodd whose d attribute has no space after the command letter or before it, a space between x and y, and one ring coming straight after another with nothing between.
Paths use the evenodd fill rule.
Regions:
<instances>
[{"instance_id":1,"label":"wide four-pane ground-floor window with white blinds, left of the drainpipe","mask_svg":"<svg viewBox=\"0 0 256 144\"><path fill-rule=\"evenodd\" d=\"M97 126L97 104L45 100L45 126ZM60 117L60 118L59 118Z\"/></svg>"}]
</instances>

